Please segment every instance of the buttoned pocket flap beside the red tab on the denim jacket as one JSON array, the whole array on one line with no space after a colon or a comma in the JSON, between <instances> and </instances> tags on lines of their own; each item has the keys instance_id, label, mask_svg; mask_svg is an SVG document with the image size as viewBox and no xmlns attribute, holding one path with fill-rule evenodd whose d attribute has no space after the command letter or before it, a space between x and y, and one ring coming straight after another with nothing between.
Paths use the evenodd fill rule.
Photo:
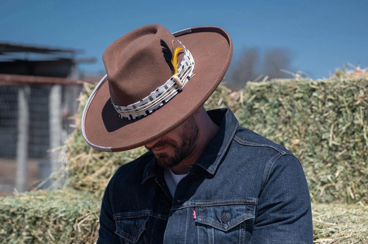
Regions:
<instances>
[{"instance_id":1,"label":"buttoned pocket flap beside the red tab on the denim jacket","mask_svg":"<svg viewBox=\"0 0 368 244\"><path fill-rule=\"evenodd\" d=\"M231 204L196 207L195 221L227 231L239 223L254 218L254 204Z\"/></svg>"}]
</instances>

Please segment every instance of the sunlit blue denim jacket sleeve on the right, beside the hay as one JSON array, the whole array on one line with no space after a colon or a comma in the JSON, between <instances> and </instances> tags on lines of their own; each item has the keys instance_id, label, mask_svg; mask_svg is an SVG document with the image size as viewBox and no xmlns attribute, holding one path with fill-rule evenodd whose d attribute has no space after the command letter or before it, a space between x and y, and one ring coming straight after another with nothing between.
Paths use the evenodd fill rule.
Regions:
<instances>
[{"instance_id":1,"label":"sunlit blue denim jacket sleeve on the right, beside the hay","mask_svg":"<svg viewBox=\"0 0 368 244\"><path fill-rule=\"evenodd\" d=\"M251 243L312 244L311 199L299 160L286 154L269 167L256 207Z\"/></svg>"}]
</instances>

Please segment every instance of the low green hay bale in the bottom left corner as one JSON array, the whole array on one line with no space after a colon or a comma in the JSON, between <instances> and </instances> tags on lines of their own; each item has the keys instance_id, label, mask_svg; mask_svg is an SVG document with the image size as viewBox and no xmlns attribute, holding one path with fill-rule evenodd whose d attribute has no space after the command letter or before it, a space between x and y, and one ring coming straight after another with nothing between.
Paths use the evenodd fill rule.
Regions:
<instances>
[{"instance_id":1,"label":"low green hay bale in the bottom left corner","mask_svg":"<svg viewBox=\"0 0 368 244\"><path fill-rule=\"evenodd\" d=\"M95 243L100 202L76 190L0 197L0 243Z\"/></svg>"}]
</instances>

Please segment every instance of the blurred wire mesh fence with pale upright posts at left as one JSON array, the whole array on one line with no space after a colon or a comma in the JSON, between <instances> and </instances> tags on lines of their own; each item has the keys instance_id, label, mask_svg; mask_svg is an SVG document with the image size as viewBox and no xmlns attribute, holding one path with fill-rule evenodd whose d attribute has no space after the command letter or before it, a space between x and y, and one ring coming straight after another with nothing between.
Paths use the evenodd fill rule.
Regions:
<instances>
[{"instance_id":1,"label":"blurred wire mesh fence with pale upright posts at left","mask_svg":"<svg viewBox=\"0 0 368 244\"><path fill-rule=\"evenodd\" d=\"M60 168L59 150L50 149L75 129L82 85L57 83L0 85L0 195L29 190Z\"/></svg>"}]
</instances>

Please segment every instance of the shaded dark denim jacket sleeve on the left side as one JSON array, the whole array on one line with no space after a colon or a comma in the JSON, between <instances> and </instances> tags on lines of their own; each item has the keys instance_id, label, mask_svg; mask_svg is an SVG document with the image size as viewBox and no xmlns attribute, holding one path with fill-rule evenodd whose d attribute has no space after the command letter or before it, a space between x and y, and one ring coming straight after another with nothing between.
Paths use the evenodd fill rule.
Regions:
<instances>
[{"instance_id":1,"label":"shaded dark denim jacket sleeve on the left side","mask_svg":"<svg viewBox=\"0 0 368 244\"><path fill-rule=\"evenodd\" d=\"M113 218L113 210L111 207L111 185L114 177L107 184L105 193L103 194L101 213L100 213L100 229L97 244L119 243L119 236L115 234L116 225Z\"/></svg>"}]
</instances>

